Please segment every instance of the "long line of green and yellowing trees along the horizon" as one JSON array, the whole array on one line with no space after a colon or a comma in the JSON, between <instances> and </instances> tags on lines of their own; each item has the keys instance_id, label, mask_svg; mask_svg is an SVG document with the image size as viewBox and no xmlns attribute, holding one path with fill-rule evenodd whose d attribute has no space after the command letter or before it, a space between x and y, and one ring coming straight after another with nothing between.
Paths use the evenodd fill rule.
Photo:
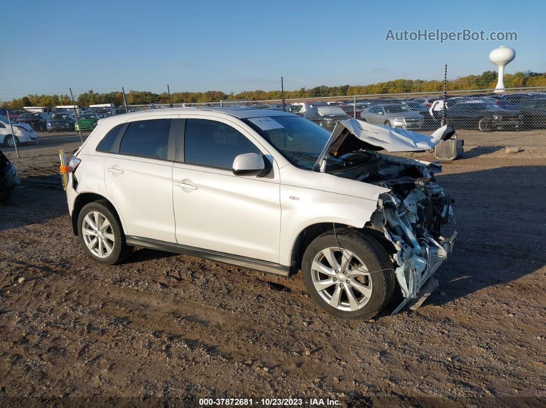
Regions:
<instances>
[{"instance_id":1,"label":"long line of green and yellowing trees along the horizon","mask_svg":"<svg viewBox=\"0 0 546 408\"><path fill-rule=\"evenodd\" d=\"M458 77L447 81L447 90L472 90L472 89L491 89L495 88L497 82L497 73L495 71L484 71L480 75L468 75ZM516 72L515 74L505 75L505 86L507 88L520 87L546 87L546 72ZM393 80L387 82L378 82L370 85L351 86L343 85L338 87L328 87L321 85L314 88L301 88L298 90L284 91L286 99L305 99L318 98L321 96L352 96L369 94L396 94L412 92L441 92L443 90L443 81L436 80ZM144 105L148 103L204 103L218 102L220 100L239 100L250 99L275 100L281 99L280 90L266 92L264 90L243 91L238 94L233 92L226 94L221 91L210 90L207 92L174 92L169 94L153 93L149 91L131 90L126 94L128 105ZM122 106L123 94L121 92L96 93L90 90L78 95L76 103L82 106L94 105L97 103L114 103L116 106ZM22 98L16 98L11 101L2 102L2 108L20 109L23 106L57 106L72 105L70 96L64 95L27 95Z\"/></svg>"}]
</instances>

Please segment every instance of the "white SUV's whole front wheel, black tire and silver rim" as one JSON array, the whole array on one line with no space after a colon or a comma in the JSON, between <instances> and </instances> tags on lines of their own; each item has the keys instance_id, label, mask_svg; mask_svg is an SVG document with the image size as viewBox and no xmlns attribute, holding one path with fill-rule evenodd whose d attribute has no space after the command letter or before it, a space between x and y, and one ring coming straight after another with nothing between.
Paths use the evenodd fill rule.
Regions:
<instances>
[{"instance_id":1,"label":"white SUV's whole front wheel, black tire and silver rim","mask_svg":"<svg viewBox=\"0 0 546 408\"><path fill-rule=\"evenodd\" d=\"M301 269L307 292L331 315L370 319L393 295L393 265L376 240L354 229L336 232L324 233L305 250Z\"/></svg>"}]
</instances>

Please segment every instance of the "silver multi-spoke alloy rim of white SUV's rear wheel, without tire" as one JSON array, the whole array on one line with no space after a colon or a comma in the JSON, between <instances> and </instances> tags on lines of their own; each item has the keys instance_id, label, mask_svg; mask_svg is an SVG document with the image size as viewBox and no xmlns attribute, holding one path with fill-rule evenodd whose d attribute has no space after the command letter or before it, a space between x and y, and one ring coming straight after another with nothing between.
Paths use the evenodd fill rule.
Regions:
<instances>
[{"instance_id":1,"label":"silver multi-spoke alloy rim of white SUV's rear wheel, without tire","mask_svg":"<svg viewBox=\"0 0 546 408\"><path fill-rule=\"evenodd\" d=\"M114 230L108 218L98 211L91 211L84 217L81 233L85 245L93 255L106 258L114 249Z\"/></svg>"}]
</instances>

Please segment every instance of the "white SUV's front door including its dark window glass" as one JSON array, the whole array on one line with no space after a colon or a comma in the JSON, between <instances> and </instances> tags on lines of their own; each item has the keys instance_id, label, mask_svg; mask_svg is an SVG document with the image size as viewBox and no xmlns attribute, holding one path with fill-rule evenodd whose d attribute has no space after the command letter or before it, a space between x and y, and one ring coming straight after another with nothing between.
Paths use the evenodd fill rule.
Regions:
<instances>
[{"instance_id":1,"label":"white SUV's front door including its dark window glass","mask_svg":"<svg viewBox=\"0 0 546 408\"><path fill-rule=\"evenodd\" d=\"M234 175L233 160L244 153L264 155L272 167L269 174ZM176 241L278 263L278 169L251 134L235 121L187 117L184 137L177 138L175 159Z\"/></svg>"}]
</instances>

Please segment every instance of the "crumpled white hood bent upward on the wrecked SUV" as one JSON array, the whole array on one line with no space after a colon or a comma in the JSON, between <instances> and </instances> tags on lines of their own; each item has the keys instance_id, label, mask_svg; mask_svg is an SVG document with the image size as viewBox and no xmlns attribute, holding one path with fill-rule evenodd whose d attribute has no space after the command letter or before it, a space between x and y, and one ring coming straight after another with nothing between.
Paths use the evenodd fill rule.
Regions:
<instances>
[{"instance_id":1,"label":"crumpled white hood bent upward on the wrecked SUV","mask_svg":"<svg viewBox=\"0 0 546 408\"><path fill-rule=\"evenodd\" d=\"M322 162L331 154L339 157L357 149L399 151L423 151L435 147L441 140L455 134L452 125L436 129L432 135L412 132L390 126L377 126L358 119L340 120L332 131L328 142L313 166L314 171L321 168Z\"/></svg>"}]
</instances>

